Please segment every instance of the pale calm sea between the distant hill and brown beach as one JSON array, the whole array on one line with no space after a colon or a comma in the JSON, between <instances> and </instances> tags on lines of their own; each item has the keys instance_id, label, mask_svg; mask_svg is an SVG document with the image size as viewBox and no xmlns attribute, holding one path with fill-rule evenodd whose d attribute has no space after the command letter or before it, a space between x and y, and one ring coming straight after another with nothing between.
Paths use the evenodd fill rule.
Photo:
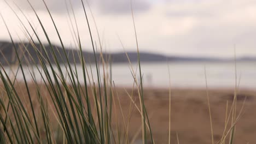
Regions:
<instances>
[{"instance_id":1,"label":"pale calm sea between the distant hill and brown beach","mask_svg":"<svg viewBox=\"0 0 256 144\"><path fill-rule=\"evenodd\" d=\"M49 68L49 67L48 67ZM8 75L15 75L17 79L24 81L21 69L19 67L4 67ZM50 68L49 68L50 69ZM56 73L57 67L54 69ZM62 73L66 76L67 68L61 65ZM72 65L72 70L80 83L84 83L83 67L77 64ZM89 85L98 83L98 79L103 83L103 77L106 82L112 82L112 85L118 87L132 87L142 81L144 87L160 88L256 88L256 61L239 62L143 62L141 63L141 76L137 63L114 63L98 65L99 76L95 64L86 64L86 79ZM24 66L24 73L27 81L42 82L41 67Z\"/></svg>"}]
</instances>

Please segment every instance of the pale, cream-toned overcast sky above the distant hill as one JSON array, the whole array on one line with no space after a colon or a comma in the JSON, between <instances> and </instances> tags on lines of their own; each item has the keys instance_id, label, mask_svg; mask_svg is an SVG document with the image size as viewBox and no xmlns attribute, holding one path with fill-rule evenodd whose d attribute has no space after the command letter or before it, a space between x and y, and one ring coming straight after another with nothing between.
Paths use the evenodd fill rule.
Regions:
<instances>
[{"instance_id":1,"label":"pale, cream-toned overcast sky above the distant hill","mask_svg":"<svg viewBox=\"0 0 256 144\"><path fill-rule=\"evenodd\" d=\"M28 20L36 27L40 39L46 42L42 28L27 0L6 1L32 34L26 19L16 7L19 5ZM30 0L30 2L42 20L51 41L60 44L42 0ZM81 1L45 0L45 2L53 14L65 45L75 47L75 38L72 37L75 16L83 49L92 51ZM103 51L122 52L124 49L121 43L125 51L137 50L130 0L88 0L87 2L84 0L84 3L92 35L97 45L100 45L96 23ZM178 56L233 57L236 49L237 56L256 56L256 1L132 0L132 8L140 51ZM24 28L4 0L0 0L0 13L15 41L26 41ZM71 15L71 19L68 14ZM74 29L76 31L76 28ZM10 40L2 19L0 19L0 40Z\"/></svg>"}]
</instances>

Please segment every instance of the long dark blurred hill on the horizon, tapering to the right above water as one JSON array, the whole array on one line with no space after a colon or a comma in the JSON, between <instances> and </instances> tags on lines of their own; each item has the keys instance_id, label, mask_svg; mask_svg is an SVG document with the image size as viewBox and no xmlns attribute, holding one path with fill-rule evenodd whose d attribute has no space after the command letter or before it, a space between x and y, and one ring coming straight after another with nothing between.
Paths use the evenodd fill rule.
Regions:
<instances>
[{"instance_id":1,"label":"long dark blurred hill on the horizon, tapering to the right above water","mask_svg":"<svg viewBox=\"0 0 256 144\"><path fill-rule=\"evenodd\" d=\"M24 45L26 46L26 49L24 48ZM36 51L32 47L31 44L28 43L15 43L15 46L18 47L18 53L20 56L22 56L22 63L26 62L26 58L30 59L30 55L34 62L37 64L39 63L39 60L37 58ZM50 61L54 62L54 57L51 55L51 48L49 45L44 45L45 50L49 55ZM39 44L36 44L36 47L39 51L42 51L42 47L40 47ZM62 47L54 46L54 51L57 53L57 59L60 63L66 63L65 53L62 49ZM68 53L68 59L69 62L75 63L80 62L79 57L80 53L77 49L66 49L66 52ZM30 55L28 54L30 53ZM42 53L44 53L42 51ZM126 53L119 52L119 53L102 53L103 58L105 61L108 61L108 59L111 57L111 61L113 63L125 63L128 62ZM130 58L131 62L137 62L137 52L127 52L128 57ZM45 54L44 54L45 56ZM88 63L94 63L95 57L94 53L83 51L83 56L85 58L85 61ZM234 61L233 59L219 59L219 58L209 58L209 57L178 57L178 56L164 56L159 55L155 53L147 53L147 52L140 52L140 61L141 62L182 62L182 61L215 61L215 62L223 62L223 61ZM100 53L96 53L96 59L98 62L100 62ZM256 61L255 57L242 57L239 60L246 60L246 61ZM17 62L17 58L15 55L15 49L12 43L6 42L6 41L0 41L0 62L3 65L13 64ZM33 62L31 62L33 64Z\"/></svg>"}]
</instances>

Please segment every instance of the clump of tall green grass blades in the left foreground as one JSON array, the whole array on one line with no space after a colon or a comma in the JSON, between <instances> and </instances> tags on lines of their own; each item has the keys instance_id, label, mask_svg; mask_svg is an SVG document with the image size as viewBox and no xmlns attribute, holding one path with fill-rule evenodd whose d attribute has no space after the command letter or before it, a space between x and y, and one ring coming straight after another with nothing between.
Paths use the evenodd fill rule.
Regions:
<instances>
[{"instance_id":1,"label":"clump of tall green grass blades in the left foreground","mask_svg":"<svg viewBox=\"0 0 256 144\"><path fill-rule=\"evenodd\" d=\"M122 112L122 110L118 93L115 93L114 82L107 72L110 58L103 56L102 52L100 52L101 58L97 58L97 45L92 38L84 2L81 1L81 5L85 15L85 26L89 28L97 77L91 76L92 71L89 69L91 62L87 62L83 55L83 43L80 40L76 21L75 25L72 25L72 31L75 34L73 39L78 45L79 53L70 53L63 44L54 17L45 1L42 1L55 28L63 53L52 43L40 16L29 1L27 2L39 22L38 28L42 29L43 35L39 35L37 28L21 9L19 10L26 22L22 21L17 12L10 7L19 19L29 44L15 44L13 35L2 16L13 44L16 64L7 62L10 70L7 70L4 64L0 64L1 143L130 143L129 122L125 121L124 115L123 121L119 121L117 116L117 111ZM73 17L75 20L73 9L71 11L72 13L68 13L69 19ZM25 23L28 23L28 26ZM49 49L46 49L42 37L46 39ZM102 49L100 38L98 40ZM79 56L79 59L74 56ZM142 81L139 51L138 65L139 77ZM82 76L78 75L78 67L82 68ZM137 110L141 113L143 143L147 141L154 143L143 100L143 85L137 82L135 71L131 71L135 87L139 92L140 105L137 106L130 95L128 117L131 117L134 106L140 107ZM39 76L35 73L39 73ZM22 82L18 81L19 74L22 75ZM148 135L150 138L147 137Z\"/></svg>"}]
</instances>

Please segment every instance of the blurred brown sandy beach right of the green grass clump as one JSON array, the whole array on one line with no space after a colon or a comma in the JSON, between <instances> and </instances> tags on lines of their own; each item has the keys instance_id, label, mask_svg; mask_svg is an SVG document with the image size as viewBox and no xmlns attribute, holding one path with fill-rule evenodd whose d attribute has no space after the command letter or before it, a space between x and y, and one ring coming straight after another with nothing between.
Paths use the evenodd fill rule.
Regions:
<instances>
[{"instance_id":1,"label":"blurred brown sandy beach right of the green grass clump","mask_svg":"<svg viewBox=\"0 0 256 144\"><path fill-rule=\"evenodd\" d=\"M20 85L18 92L23 92L25 86ZM44 86L42 87L44 88ZM33 85L30 85L31 94L35 95L36 91ZM125 90L126 89L126 90ZM3 91L3 90L2 90ZM127 92L126 92L127 91ZM124 113L125 123L129 121L130 97L133 94L133 100L139 106L138 91L131 88L117 88L114 90L114 96L119 95L121 109ZM213 137L214 143L222 139L225 127L226 105L228 103L228 112L234 98L234 89L209 89ZM237 92L237 115L241 110L243 101L246 98L242 117L236 125L235 143L255 143L256 134L256 92L249 89L239 89ZM117 99L115 99L117 100ZM144 103L150 117L155 143L168 142L168 123L169 123L169 90L165 88L144 88ZM119 107L116 101L117 107ZM119 108L117 108L119 109ZM114 115L113 115L114 116ZM117 118L122 125L123 118L120 111L117 112ZM231 118L229 119L226 131L230 129ZM115 127L115 122L113 121ZM133 107L129 137L134 138L136 133L139 142L141 138L141 115ZM207 94L205 88L173 88L171 89L171 143L211 143L211 126L210 115L207 104ZM228 136L229 137L229 136ZM227 138L226 142L228 142ZM135 142L136 142L135 141Z\"/></svg>"}]
</instances>

